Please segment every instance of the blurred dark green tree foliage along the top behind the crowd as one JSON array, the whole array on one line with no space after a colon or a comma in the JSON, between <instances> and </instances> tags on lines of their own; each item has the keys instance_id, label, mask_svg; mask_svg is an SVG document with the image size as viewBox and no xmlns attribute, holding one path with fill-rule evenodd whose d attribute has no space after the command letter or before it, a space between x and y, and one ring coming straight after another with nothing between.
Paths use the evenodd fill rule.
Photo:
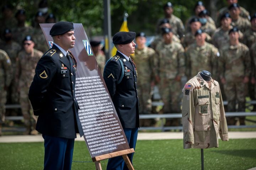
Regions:
<instances>
[{"instance_id":1,"label":"blurred dark green tree foliage along the top behind the crowd","mask_svg":"<svg viewBox=\"0 0 256 170\"><path fill-rule=\"evenodd\" d=\"M28 23L32 23L40 0L2 0L4 4L12 4L17 9L24 8L27 12ZM119 31L125 11L129 14L128 28L135 32L144 31L148 35L155 33L156 23L164 17L163 5L169 0L111 0L112 35ZM219 10L226 6L226 0L215 1L211 7L210 1L202 0L208 10ZM174 15L181 18L183 23L194 14L194 4L197 0L171 0L174 5ZM255 13L253 0L239 1L251 15ZM48 0L49 12L53 12L58 21L82 23L87 35L103 34L103 0Z\"/></svg>"}]
</instances>

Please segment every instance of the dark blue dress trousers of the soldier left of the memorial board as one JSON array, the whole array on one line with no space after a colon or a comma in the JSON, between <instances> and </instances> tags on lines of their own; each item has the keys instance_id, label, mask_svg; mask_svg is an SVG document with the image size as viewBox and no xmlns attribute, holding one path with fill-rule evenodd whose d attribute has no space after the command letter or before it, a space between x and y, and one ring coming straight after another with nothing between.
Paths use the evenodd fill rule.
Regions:
<instances>
[{"instance_id":1,"label":"dark blue dress trousers of the soldier left of the memorial board","mask_svg":"<svg viewBox=\"0 0 256 170\"><path fill-rule=\"evenodd\" d=\"M47 135L43 138L44 170L71 170L75 139Z\"/></svg>"}]
</instances>

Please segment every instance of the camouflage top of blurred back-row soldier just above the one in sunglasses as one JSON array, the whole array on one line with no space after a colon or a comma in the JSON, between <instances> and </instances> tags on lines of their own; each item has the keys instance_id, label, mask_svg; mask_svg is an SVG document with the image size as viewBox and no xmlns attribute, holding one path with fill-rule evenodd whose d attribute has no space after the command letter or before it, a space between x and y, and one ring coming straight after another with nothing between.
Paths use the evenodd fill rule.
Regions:
<instances>
[{"instance_id":1,"label":"camouflage top of blurred back-row soldier just above the one in sunglasses","mask_svg":"<svg viewBox=\"0 0 256 170\"><path fill-rule=\"evenodd\" d=\"M16 27L12 32L13 39L18 42L18 44L22 44L22 41L27 35L31 35L33 28L31 26L25 27Z\"/></svg>"}]
</instances>

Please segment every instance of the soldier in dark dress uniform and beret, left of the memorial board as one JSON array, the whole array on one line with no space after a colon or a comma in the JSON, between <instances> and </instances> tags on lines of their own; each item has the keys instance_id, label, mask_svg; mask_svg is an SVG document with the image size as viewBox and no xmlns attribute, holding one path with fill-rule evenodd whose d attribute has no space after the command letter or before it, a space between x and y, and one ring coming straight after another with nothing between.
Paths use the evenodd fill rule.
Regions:
<instances>
[{"instance_id":1,"label":"soldier in dark dress uniform and beret, left of the memorial board","mask_svg":"<svg viewBox=\"0 0 256 170\"><path fill-rule=\"evenodd\" d=\"M75 45L71 22L50 30L53 47L41 57L29 90L36 130L44 138L44 169L71 169L76 133L83 135L75 99L76 61L68 49Z\"/></svg>"}]
</instances>

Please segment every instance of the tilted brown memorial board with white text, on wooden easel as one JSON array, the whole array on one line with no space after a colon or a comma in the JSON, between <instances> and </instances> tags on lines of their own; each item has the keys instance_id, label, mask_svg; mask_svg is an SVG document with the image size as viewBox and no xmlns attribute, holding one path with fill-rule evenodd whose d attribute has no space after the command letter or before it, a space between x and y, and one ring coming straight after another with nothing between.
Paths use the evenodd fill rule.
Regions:
<instances>
[{"instance_id":1,"label":"tilted brown memorial board with white text, on wooden easel","mask_svg":"<svg viewBox=\"0 0 256 170\"><path fill-rule=\"evenodd\" d=\"M40 24L49 47L53 24ZM82 24L74 23L75 47L70 51L77 61L75 97L79 119L91 157L129 149L122 125L108 93L96 58Z\"/></svg>"}]
</instances>

